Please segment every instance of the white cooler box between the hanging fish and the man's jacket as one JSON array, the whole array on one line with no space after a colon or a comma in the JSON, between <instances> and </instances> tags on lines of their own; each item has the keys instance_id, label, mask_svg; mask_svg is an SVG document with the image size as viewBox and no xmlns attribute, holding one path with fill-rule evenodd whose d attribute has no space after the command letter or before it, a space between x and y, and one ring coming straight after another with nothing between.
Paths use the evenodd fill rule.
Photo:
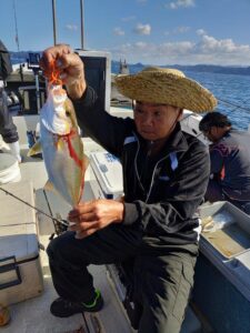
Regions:
<instances>
[{"instance_id":1,"label":"white cooler box between the hanging fish and the man's jacket","mask_svg":"<svg viewBox=\"0 0 250 333\"><path fill-rule=\"evenodd\" d=\"M97 199L119 199L123 194L122 167L107 151L90 154L90 185Z\"/></svg>"}]
</instances>

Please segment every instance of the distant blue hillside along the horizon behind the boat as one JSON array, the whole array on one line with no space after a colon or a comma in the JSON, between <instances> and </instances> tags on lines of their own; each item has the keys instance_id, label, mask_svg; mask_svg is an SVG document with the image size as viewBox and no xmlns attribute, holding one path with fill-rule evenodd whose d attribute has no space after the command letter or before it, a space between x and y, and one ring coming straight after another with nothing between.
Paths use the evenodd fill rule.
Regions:
<instances>
[{"instance_id":1,"label":"distant blue hillside along the horizon behind the boat","mask_svg":"<svg viewBox=\"0 0 250 333\"><path fill-rule=\"evenodd\" d=\"M33 51L32 51L33 52ZM38 51L39 52L39 51ZM29 51L23 52L10 52L12 63L26 62L29 57ZM129 63L130 73L137 73L142 70L146 65L142 63ZM238 75L250 75L250 67L224 67L224 65L213 65L213 64L196 64L196 65L162 65L168 68L177 68L181 71L193 71L193 72L210 72L220 74L238 74ZM118 73L120 68L120 61L113 60L111 62L111 72Z\"/></svg>"}]
</instances>

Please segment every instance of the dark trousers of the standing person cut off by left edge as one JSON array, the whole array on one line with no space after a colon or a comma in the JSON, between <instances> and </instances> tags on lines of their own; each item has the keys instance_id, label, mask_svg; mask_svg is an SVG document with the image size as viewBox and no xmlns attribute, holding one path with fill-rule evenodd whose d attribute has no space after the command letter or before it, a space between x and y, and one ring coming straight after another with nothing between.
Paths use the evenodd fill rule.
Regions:
<instances>
[{"instance_id":1,"label":"dark trousers of the standing person cut off by left edge","mask_svg":"<svg viewBox=\"0 0 250 333\"><path fill-rule=\"evenodd\" d=\"M19 140L17 127L8 110L7 93L2 88L0 88L0 134L6 143Z\"/></svg>"}]
</instances>

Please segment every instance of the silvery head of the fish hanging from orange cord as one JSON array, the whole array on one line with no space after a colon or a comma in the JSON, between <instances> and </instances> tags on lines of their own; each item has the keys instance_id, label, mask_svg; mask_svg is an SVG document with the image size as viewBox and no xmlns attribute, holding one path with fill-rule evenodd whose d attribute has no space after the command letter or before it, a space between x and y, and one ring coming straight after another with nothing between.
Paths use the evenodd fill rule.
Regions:
<instances>
[{"instance_id":1,"label":"silvery head of the fish hanging from orange cord","mask_svg":"<svg viewBox=\"0 0 250 333\"><path fill-rule=\"evenodd\" d=\"M51 85L48 99L40 111L40 120L44 128L54 134L67 135L76 123L73 104L61 85Z\"/></svg>"}]
</instances>

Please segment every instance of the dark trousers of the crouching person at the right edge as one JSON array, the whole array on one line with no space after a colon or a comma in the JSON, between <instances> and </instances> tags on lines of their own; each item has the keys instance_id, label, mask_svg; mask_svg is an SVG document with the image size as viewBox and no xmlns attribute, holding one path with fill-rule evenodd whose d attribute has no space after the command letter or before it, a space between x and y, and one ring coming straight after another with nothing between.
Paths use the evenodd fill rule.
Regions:
<instances>
[{"instance_id":1,"label":"dark trousers of the crouching person at the right edge","mask_svg":"<svg viewBox=\"0 0 250 333\"><path fill-rule=\"evenodd\" d=\"M223 188L216 180L209 181L208 189L204 194L204 200L209 201L209 202L229 201L232 204L234 204L238 209L243 211L244 213L250 214L250 201L233 200L233 199L229 198L223 192Z\"/></svg>"}]
</instances>

